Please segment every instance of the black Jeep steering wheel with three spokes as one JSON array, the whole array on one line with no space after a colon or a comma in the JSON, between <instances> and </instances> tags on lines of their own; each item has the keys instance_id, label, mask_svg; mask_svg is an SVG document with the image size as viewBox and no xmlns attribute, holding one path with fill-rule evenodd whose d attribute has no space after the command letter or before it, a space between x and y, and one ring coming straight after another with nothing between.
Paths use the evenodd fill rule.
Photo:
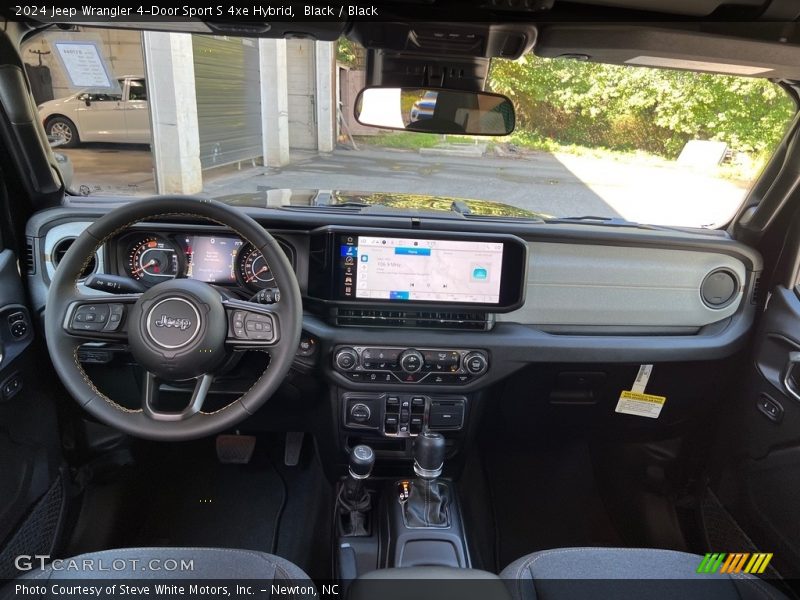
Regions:
<instances>
[{"instance_id":1,"label":"black Jeep steering wheel with three spokes","mask_svg":"<svg viewBox=\"0 0 800 600\"><path fill-rule=\"evenodd\" d=\"M96 250L139 221L204 219L224 225L264 256L280 300L263 305L223 297L191 279L160 283L143 294L87 294L81 271ZM90 225L61 259L50 283L45 335L50 358L75 400L103 423L152 440L187 440L217 433L247 418L283 381L300 342L302 299L294 270L275 239L238 210L213 200L158 196L126 204ZM95 387L81 366L78 348L87 341L127 343L146 376L142 406L130 409ZM214 412L203 402L215 372L231 352L261 350L269 366L240 398ZM195 380L181 412L158 408L159 382Z\"/></svg>"}]
</instances>

